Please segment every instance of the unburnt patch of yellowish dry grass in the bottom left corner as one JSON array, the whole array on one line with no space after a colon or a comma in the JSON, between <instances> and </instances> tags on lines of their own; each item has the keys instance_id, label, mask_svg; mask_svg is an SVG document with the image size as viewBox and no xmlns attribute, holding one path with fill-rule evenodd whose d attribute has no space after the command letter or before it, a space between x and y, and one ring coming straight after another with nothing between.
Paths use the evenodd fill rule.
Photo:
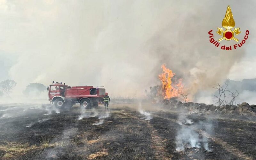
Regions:
<instances>
[{"instance_id":1,"label":"unburnt patch of yellowish dry grass in the bottom left corner","mask_svg":"<svg viewBox=\"0 0 256 160\"><path fill-rule=\"evenodd\" d=\"M24 155L29 150L36 149L36 145L30 146L28 143L13 143L13 142L5 142L5 144L0 145L0 150L5 151L6 153L3 155L4 158L12 158Z\"/></svg>"}]
</instances>

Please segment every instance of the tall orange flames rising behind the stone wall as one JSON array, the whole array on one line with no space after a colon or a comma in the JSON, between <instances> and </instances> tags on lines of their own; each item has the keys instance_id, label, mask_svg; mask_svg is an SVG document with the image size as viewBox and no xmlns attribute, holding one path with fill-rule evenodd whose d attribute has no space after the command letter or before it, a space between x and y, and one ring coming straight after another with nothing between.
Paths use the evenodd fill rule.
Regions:
<instances>
[{"instance_id":1,"label":"tall orange flames rising behind the stone wall","mask_svg":"<svg viewBox=\"0 0 256 160\"><path fill-rule=\"evenodd\" d=\"M165 67L165 64L162 65L163 73L160 74L158 77L162 82L162 95L164 99L170 99L172 97L180 97L183 85L182 85L182 78L180 78L177 82L173 80L173 76L175 73L172 72L171 69Z\"/></svg>"}]
</instances>

